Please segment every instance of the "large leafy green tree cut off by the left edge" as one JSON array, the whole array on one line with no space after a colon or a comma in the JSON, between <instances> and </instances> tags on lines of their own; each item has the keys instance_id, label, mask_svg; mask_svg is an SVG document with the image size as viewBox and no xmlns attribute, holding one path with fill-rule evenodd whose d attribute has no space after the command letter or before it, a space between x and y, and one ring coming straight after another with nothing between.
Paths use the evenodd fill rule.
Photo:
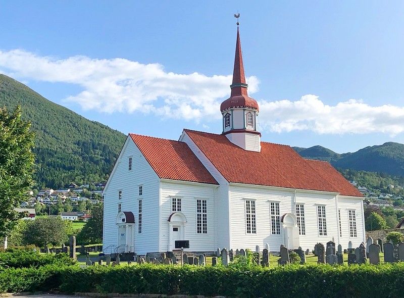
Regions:
<instances>
[{"instance_id":1,"label":"large leafy green tree cut off by the left edge","mask_svg":"<svg viewBox=\"0 0 404 298\"><path fill-rule=\"evenodd\" d=\"M21 217L20 205L32 185L35 135L21 120L21 107L13 113L0 108L0 237L8 236Z\"/></svg>"}]
</instances>

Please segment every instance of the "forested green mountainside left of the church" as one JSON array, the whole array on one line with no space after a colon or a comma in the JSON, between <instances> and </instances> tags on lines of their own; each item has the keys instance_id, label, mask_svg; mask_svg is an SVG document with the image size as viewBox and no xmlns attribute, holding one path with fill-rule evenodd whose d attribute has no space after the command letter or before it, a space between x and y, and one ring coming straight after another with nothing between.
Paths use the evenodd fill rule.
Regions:
<instances>
[{"instance_id":1,"label":"forested green mountainside left of the church","mask_svg":"<svg viewBox=\"0 0 404 298\"><path fill-rule=\"evenodd\" d=\"M0 106L22 107L36 133L37 187L105 181L125 135L57 105L26 85L0 74Z\"/></svg>"}]
</instances>

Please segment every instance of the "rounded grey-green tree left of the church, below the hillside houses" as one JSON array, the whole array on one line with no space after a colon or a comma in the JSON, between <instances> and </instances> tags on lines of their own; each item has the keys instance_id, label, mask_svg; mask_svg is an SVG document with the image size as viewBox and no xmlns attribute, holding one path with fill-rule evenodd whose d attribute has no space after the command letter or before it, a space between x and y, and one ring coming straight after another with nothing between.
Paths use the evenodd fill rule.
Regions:
<instances>
[{"instance_id":1,"label":"rounded grey-green tree left of the church, below the hillside houses","mask_svg":"<svg viewBox=\"0 0 404 298\"><path fill-rule=\"evenodd\" d=\"M68 223L61 217L36 218L28 222L24 231L24 244L44 247L48 244L61 245L68 239Z\"/></svg>"}]
</instances>

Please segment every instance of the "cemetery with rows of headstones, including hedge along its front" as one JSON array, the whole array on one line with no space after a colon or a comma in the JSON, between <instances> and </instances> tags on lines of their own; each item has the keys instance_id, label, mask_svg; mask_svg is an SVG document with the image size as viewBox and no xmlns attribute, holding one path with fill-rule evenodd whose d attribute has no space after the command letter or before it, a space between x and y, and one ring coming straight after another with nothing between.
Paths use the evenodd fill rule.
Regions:
<instances>
[{"instance_id":1,"label":"cemetery with rows of headstones, including hedge along its front","mask_svg":"<svg viewBox=\"0 0 404 298\"><path fill-rule=\"evenodd\" d=\"M150 294L147 297L404 296L404 243L378 240L368 238L359 247L347 249L329 241L312 250L288 250L281 245L278 253L270 253L268 245L263 249L257 245L255 251L218 248L215 256L184 251L179 258L162 253L122 261L119 255L106 255L78 263L72 237L65 253L15 249L0 253L0 292ZM24 261L27 259L29 264Z\"/></svg>"}]
</instances>

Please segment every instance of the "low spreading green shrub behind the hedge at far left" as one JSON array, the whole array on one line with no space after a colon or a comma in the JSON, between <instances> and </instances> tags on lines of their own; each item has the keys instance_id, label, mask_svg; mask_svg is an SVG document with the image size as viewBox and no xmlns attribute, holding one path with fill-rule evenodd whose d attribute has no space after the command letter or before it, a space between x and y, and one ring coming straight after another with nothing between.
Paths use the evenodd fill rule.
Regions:
<instances>
[{"instance_id":1,"label":"low spreading green shrub behind the hedge at far left","mask_svg":"<svg viewBox=\"0 0 404 298\"><path fill-rule=\"evenodd\" d=\"M0 252L0 267L3 268L38 268L45 265L72 265L75 261L67 254L58 255L42 255L39 252L8 249L5 252Z\"/></svg>"}]
</instances>

